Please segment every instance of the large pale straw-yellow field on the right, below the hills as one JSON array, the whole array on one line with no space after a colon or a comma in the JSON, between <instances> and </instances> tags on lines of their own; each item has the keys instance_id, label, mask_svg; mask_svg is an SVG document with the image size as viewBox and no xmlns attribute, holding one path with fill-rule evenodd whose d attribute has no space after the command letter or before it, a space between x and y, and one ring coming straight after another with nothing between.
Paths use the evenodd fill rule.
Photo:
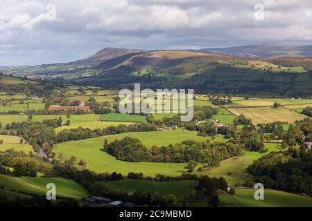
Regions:
<instances>
[{"instance_id":1,"label":"large pale straw-yellow field on the right, below the hills","mask_svg":"<svg viewBox=\"0 0 312 221\"><path fill-rule=\"evenodd\" d=\"M297 119L306 118L305 115L296 113L286 108L229 108L234 115L244 115L252 119L253 124L270 123L270 122L288 122L293 123Z\"/></svg>"}]
</instances>

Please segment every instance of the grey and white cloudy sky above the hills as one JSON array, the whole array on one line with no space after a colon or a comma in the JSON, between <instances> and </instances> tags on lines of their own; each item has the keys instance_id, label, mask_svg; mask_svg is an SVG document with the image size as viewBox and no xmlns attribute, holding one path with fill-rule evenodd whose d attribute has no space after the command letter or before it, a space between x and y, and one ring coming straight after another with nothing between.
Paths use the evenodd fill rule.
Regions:
<instances>
[{"instance_id":1,"label":"grey and white cloudy sky above the hills","mask_svg":"<svg viewBox=\"0 0 312 221\"><path fill-rule=\"evenodd\" d=\"M0 0L0 66L83 59L106 47L312 44L311 0Z\"/></svg>"}]
</instances>

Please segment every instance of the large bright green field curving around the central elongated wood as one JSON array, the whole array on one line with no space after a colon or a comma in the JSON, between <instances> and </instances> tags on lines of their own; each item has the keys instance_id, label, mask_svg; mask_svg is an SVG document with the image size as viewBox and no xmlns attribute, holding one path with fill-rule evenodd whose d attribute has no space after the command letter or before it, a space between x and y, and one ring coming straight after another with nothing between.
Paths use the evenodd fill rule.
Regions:
<instances>
[{"instance_id":1,"label":"large bright green field curving around the central elongated wood","mask_svg":"<svg viewBox=\"0 0 312 221\"><path fill-rule=\"evenodd\" d=\"M159 131L159 132L141 132L141 133L123 133L119 135L109 135L105 137L95 137L87 140L78 140L63 142L57 144L53 149L56 155L62 153L64 157L69 158L76 156L78 159L83 159L87 162L87 169L95 171L97 173L107 172L119 172L123 175L127 175L129 172L144 173L145 176L155 176L157 173L164 175L177 176L181 173L187 172L184 167L186 163L155 163L155 162L124 162L116 160L115 157L103 152L103 142L105 138L108 142L112 142L117 139L123 139L123 137L131 136L139 138L146 146L151 147L153 145L168 145L182 142L183 140L197 140L205 141L209 137L197 137L195 131ZM223 140L221 136L218 136L214 141Z\"/></svg>"}]
</instances>

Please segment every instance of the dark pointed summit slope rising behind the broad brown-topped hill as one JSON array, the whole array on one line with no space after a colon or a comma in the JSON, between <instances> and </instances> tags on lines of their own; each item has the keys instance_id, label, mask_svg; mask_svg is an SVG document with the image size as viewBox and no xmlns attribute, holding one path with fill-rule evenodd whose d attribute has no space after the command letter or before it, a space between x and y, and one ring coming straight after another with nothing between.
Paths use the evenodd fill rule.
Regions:
<instances>
[{"instance_id":1,"label":"dark pointed summit slope rising behind the broad brown-topped hill","mask_svg":"<svg viewBox=\"0 0 312 221\"><path fill-rule=\"evenodd\" d=\"M87 65L98 65L101 64L103 61L107 61L113 59L115 57L120 57L123 55L127 55L130 53L137 53L137 52L144 52L145 50L139 49L125 49L125 48L104 48L96 52L96 54L87 57L86 59L80 59L78 61L73 61L69 64L87 64Z\"/></svg>"}]
</instances>

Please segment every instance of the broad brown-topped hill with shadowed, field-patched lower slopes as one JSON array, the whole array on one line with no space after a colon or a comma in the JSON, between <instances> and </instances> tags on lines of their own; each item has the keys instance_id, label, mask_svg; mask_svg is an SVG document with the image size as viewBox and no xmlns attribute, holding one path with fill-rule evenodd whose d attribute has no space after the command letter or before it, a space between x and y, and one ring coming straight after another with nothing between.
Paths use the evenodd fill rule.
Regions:
<instances>
[{"instance_id":1,"label":"broad brown-topped hill with shadowed, field-patched lower slopes","mask_svg":"<svg viewBox=\"0 0 312 221\"><path fill-rule=\"evenodd\" d=\"M95 67L96 75L67 81L102 87L194 88L197 93L312 95L312 59L234 57L184 50L123 55Z\"/></svg>"}]
</instances>

